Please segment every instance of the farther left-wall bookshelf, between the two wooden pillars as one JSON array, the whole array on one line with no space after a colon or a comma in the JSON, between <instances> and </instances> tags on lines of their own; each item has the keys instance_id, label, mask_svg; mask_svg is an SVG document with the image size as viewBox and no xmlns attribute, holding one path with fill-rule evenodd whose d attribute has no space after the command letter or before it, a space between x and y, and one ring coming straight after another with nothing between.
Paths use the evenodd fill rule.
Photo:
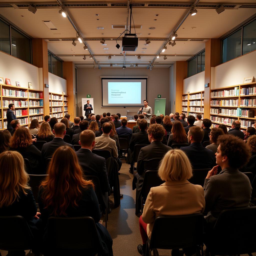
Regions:
<instances>
[{"instance_id":1,"label":"farther left-wall bookshelf, between the two wooden pillars","mask_svg":"<svg viewBox=\"0 0 256 256\"><path fill-rule=\"evenodd\" d=\"M49 92L50 117L60 121L68 113L68 95Z\"/></svg>"}]
</instances>

